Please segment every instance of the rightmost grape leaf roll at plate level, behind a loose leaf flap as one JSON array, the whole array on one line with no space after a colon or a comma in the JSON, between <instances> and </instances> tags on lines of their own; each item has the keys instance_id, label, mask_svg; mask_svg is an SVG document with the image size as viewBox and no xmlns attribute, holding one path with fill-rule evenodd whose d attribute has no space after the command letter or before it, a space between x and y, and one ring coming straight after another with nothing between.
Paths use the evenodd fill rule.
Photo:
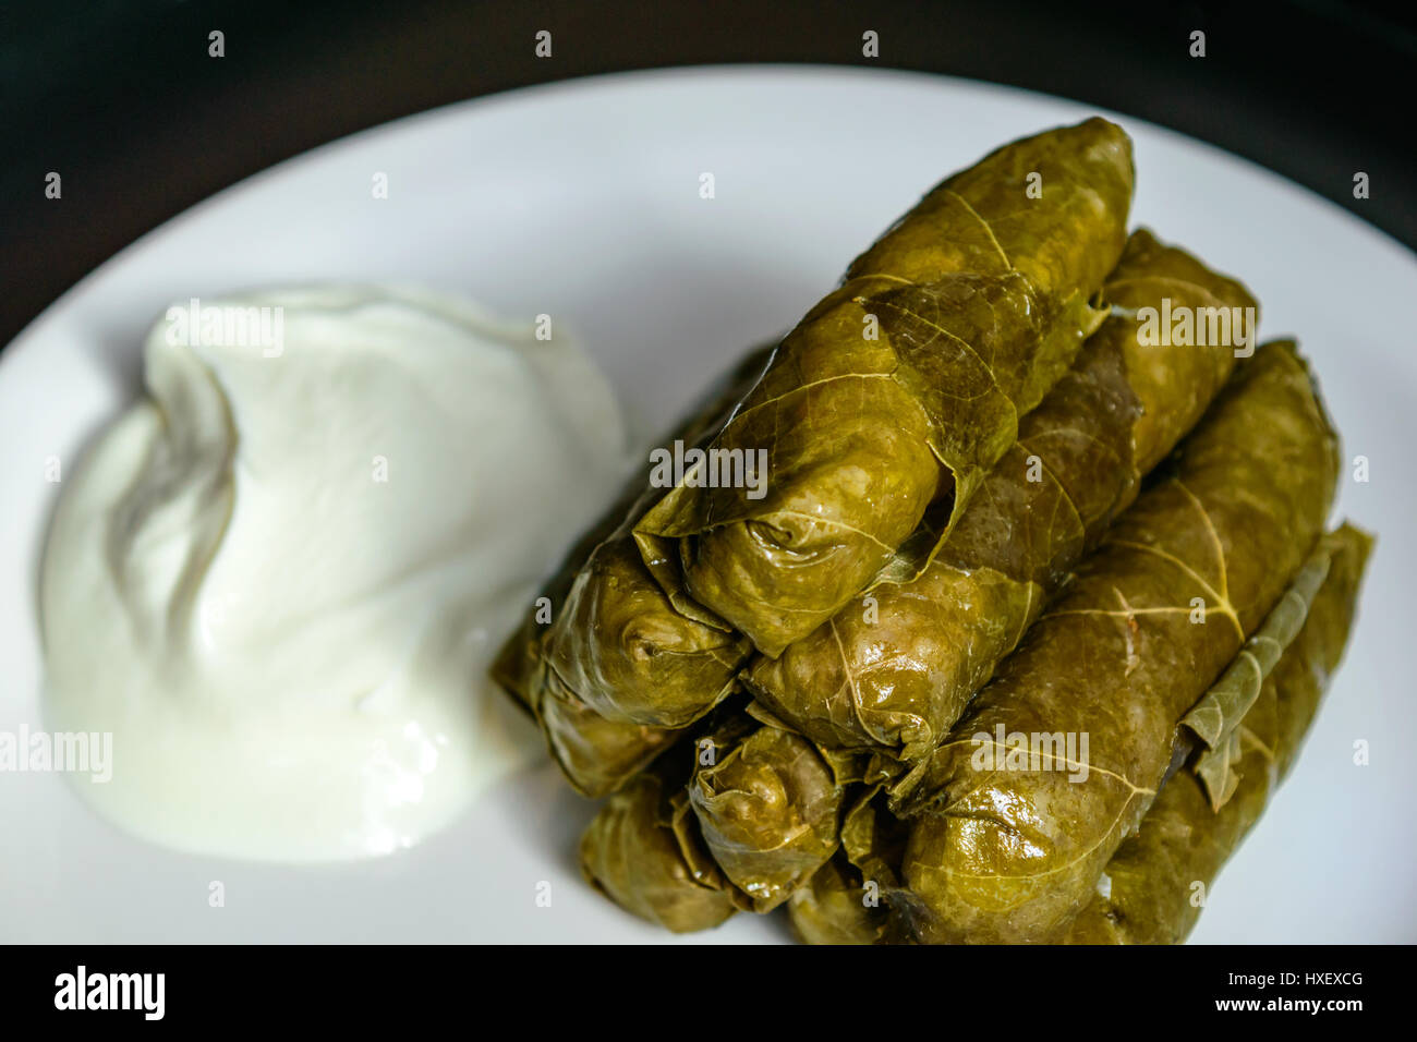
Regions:
<instances>
[{"instance_id":1,"label":"rightmost grape leaf roll at plate level, behind a loose leaf flap","mask_svg":"<svg viewBox=\"0 0 1417 1042\"><path fill-rule=\"evenodd\" d=\"M1350 525L1325 537L1332 566L1298 635L1234 726L1243 756L1231 800L1212 811L1202 781L1166 781L1141 831L1128 838L1068 927L1068 944L1179 944L1206 889L1258 821L1294 761L1348 642L1372 537Z\"/></svg>"}]
</instances>

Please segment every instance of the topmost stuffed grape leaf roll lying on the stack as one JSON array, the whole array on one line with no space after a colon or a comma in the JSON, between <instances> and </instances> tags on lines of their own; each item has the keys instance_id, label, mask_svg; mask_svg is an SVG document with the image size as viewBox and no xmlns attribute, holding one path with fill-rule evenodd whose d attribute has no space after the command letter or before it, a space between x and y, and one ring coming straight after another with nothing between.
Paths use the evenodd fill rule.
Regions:
<instances>
[{"instance_id":1,"label":"topmost stuffed grape leaf roll lying on the stack","mask_svg":"<svg viewBox=\"0 0 1417 1042\"><path fill-rule=\"evenodd\" d=\"M775 656L854 597L927 508L948 532L1101 323L1088 298L1121 255L1131 191L1131 142L1104 119L935 187L639 522L645 560L677 556L689 597ZM724 481L760 451L765 488Z\"/></svg>"}]
</instances>

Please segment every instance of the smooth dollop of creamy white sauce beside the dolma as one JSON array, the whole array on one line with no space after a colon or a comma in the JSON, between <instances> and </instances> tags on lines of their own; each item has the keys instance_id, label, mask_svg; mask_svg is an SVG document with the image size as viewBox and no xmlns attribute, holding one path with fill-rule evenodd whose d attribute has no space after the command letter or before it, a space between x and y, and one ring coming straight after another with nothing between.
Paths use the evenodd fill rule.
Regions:
<instances>
[{"instance_id":1,"label":"smooth dollop of creamy white sauce beside the dolma","mask_svg":"<svg viewBox=\"0 0 1417 1042\"><path fill-rule=\"evenodd\" d=\"M538 756L486 679L625 434L555 332L415 291L279 308L259 343L179 327L147 396L65 478L41 577L47 726L112 733L79 792L213 855L323 861L417 842ZM176 343L174 343L176 342Z\"/></svg>"}]
</instances>

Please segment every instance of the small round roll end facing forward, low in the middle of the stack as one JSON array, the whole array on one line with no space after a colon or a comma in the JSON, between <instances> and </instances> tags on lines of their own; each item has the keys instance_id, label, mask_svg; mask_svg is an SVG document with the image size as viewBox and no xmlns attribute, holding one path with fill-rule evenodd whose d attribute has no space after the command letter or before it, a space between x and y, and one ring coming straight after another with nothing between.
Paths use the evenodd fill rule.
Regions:
<instances>
[{"instance_id":1,"label":"small round roll end facing forward, low in the middle of the stack","mask_svg":"<svg viewBox=\"0 0 1417 1042\"><path fill-rule=\"evenodd\" d=\"M801 734L758 727L718 750L694 771L689 800L724 875L769 912L832 856L846 790Z\"/></svg>"}]
</instances>

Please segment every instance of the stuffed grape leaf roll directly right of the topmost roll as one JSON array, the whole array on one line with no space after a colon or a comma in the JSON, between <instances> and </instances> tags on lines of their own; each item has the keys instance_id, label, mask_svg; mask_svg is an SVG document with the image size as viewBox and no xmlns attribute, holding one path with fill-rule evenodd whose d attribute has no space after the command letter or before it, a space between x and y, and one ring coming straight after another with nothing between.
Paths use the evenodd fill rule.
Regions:
<instances>
[{"instance_id":1,"label":"stuffed grape leaf roll directly right of the topmost roll","mask_svg":"<svg viewBox=\"0 0 1417 1042\"><path fill-rule=\"evenodd\" d=\"M786 726L828 747L927 756L1234 369L1233 336L1163 342L1139 313L1254 322L1244 286L1148 231L1128 240L1102 293L1112 318L1024 417L944 543L924 525L890 581L779 658L754 656L744 683Z\"/></svg>"}]
</instances>

